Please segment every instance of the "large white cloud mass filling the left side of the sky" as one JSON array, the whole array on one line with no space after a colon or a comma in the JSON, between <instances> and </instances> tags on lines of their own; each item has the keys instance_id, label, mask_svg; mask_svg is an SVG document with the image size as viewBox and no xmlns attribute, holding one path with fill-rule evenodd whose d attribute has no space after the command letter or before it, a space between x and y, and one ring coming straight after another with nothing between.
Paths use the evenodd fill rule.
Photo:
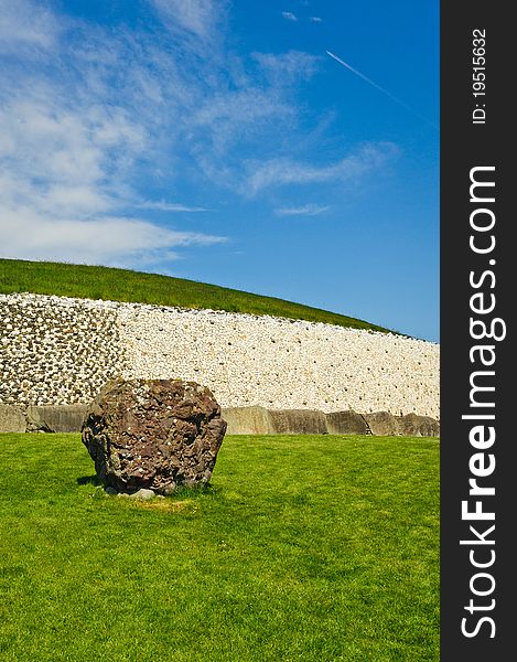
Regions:
<instances>
[{"instance_id":1,"label":"large white cloud mass filling the left side of the sky","mask_svg":"<svg viewBox=\"0 0 517 662\"><path fill-rule=\"evenodd\" d=\"M52 15L44 14L47 23L42 23L35 7L32 12L28 2L20 7L23 12L8 14L11 33L19 42L23 38L32 45L50 46L41 28L55 23ZM30 15L35 17L33 23ZM224 242L224 237L121 215L139 197L131 180L142 158L155 148L160 116L143 108L134 111L133 79L126 87L120 79L112 85L120 55L130 52L130 45L103 40L98 31L83 36L82 43L100 43L105 50L96 50L95 56L88 56L87 49L74 50L69 61L47 53L34 61L30 74L14 71L7 76L0 89L1 256L131 266L175 258L174 249L181 246ZM22 53L19 60L23 61ZM53 76L53 67L58 76ZM141 64L141 79L146 73ZM201 211L163 201L140 206Z\"/></svg>"}]
</instances>

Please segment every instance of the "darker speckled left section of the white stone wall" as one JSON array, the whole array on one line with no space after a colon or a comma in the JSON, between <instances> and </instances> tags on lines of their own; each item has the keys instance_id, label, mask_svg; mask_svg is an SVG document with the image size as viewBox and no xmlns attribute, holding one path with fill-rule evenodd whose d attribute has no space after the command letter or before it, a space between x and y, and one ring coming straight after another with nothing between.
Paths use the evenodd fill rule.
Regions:
<instances>
[{"instance_id":1,"label":"darker speckled left section of the white stone wall","mask_svg":"<svg viewBox=\"0 0 517 662\"><path fill-rule=\"evenodd\" d=\"M0 295L0 403L89 403L123 366L119 328L95 302Z\"/></svg>"}]
</instances>

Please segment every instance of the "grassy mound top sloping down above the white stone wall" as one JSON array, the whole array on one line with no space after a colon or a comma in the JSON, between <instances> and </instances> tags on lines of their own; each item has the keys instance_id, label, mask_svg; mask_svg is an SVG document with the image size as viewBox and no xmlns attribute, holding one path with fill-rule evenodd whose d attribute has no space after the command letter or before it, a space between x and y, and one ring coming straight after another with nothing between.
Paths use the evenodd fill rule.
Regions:
<instances>
[{"instance_id":1,"label":"grassy mound top sloping down above the white stone wall","mask_svg":"<svg viewBox=\"0 0 517 662\"><path fill-rule=\"evenodd\" d=\"M344 314L217 285L110 267L0 259L0 293L32 292L79 299L271 314L353 329L388 329Z\"/></svg>"}]
</instances>

